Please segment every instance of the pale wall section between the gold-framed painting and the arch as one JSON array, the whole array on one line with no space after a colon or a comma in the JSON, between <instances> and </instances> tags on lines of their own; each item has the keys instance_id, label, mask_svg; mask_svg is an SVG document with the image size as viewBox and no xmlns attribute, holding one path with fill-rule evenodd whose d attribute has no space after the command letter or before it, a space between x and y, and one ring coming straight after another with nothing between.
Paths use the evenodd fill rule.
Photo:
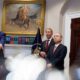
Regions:
<instances>
[{"instance_id":1,"label":"pale wall section between the gold-framed painting and the arch","mask_svg":"<svg viewBox=\"0 0 80 80\"><path fill-rule=\"evenodd\" d=\"M65 0L46 0L45 27L53 28L59 32L60 11Z\"/></svg>"}]
</instances>

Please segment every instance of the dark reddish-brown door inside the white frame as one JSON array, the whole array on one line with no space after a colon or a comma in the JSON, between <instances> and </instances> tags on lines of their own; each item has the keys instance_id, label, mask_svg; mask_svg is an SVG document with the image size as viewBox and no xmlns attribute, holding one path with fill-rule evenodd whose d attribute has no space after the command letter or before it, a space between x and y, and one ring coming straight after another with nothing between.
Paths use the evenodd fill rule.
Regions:
<instances>
[{"instance_id":1,"label":"dark reddish-brown door inside the white frame","mask_svg":"<svg viewBox=\"0 0 80 80\"><path fill-rule=\"evenodd\" d=\"M70 64L80 64L80 18L71 20Z\"/></svg>"}]
</instances>

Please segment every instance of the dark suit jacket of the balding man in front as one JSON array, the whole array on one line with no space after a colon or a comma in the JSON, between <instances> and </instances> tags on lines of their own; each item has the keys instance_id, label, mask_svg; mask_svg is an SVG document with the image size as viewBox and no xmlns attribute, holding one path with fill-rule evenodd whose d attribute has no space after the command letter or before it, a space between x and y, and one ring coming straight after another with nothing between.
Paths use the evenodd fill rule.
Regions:
<instances>
[{"instance_id":1,"label":"dark suit jacket of the balding man in front","mask_svg":"<svg viewBox=\"0 0 80 80\"><path fill-rule=\"evenodd\" d=\"M67 53L67 47L64 46L63 44L60 44L56 48L55 52L53 50L54 50L54 46L51 46L47 54L47 59L49 60L50 63L52 63L52 65L55 68L63 70L64 69L64 58Z\"/></svg>"}]
</instances>

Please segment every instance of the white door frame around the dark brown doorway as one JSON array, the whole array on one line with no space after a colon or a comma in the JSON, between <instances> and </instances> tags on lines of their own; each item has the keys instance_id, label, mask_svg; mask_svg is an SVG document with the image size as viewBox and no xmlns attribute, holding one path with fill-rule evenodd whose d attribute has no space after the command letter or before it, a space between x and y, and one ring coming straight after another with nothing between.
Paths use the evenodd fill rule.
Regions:
<instances>
[{"instance_id":1,"label":"white door frame around the dark brown doorway","mask_svg":"<svg viewBox=\"0 0 80 80\"><path fill-rule=\"evenodd\" d=\"M66 59L68 61L67 67L69 67L70 59L69 59L69 54L70 54L70 41L71 41L71 20L74 18L79 18L80 17L80 12L71 12L71 13L66 13L64 15L64 41L63 43L67 46L67 56Z\"/></svg>"}]
</instances>

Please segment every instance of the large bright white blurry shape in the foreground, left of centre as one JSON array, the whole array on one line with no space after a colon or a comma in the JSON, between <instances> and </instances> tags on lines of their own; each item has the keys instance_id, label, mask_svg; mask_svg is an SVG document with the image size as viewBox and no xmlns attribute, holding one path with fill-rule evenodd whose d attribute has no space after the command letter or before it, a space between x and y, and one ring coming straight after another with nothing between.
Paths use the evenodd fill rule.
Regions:
<instances>
[{"instance_id":1,"label":"large bright white blurry shape in the foreground, left of centre","mask_svg":"<svg viewBox=\"0 0 80 80\"><path fill-rule=\"evenodd\" d=\"M36 55L9 57L6 68L11 72L6 80L36 80L45 67L46 61Z\"/></svg>"}]
</instances>

